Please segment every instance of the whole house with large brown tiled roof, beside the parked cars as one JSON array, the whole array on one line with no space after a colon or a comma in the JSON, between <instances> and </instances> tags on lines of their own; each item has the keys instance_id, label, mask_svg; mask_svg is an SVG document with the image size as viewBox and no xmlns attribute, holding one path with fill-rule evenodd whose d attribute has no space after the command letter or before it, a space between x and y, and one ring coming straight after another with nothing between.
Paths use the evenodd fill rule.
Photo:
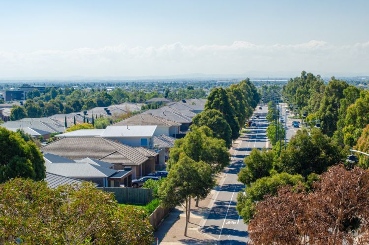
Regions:
<instances>
[{"instance_id":1,"label":"whole house with large brown tiled roof, beside the parked cars","mask_svg":"<svg viewBox=\"0 0 369 245\"><path fill-rule=\"evenodd\" d=\"M158 153L102 137L72 137L55 140L40 150L73 160L86 157L114 164L113 169L132 168L132 178L153 173ZM75 176L73 176L75 177Z\"/></svg>"}]
</instances>

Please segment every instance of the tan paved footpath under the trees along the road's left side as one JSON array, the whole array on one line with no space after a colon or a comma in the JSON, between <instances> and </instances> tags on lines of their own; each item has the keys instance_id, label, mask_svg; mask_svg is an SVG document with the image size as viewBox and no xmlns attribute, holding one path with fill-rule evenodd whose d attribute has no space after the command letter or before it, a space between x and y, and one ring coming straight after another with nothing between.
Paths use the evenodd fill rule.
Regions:
<instances>
[{"instance_id":1,"label":"tan paved footpath under the trees along the road's left side","mask_svg":"<svg viewBox=\"0 0 369 245\"><path fill-rule=\"evenodd\" d=\"M236 140L229 150L231 155L235 151L235 147L240 143L241 138ZM216 185L211 193L202 201L199 201L199 207L195 207L196 200L191 201L191 214L188 223L187 236L184 236L185 212L181 206L173 209L168 217L162 222L157 231L154 233L155 239L159 239L160 245L216 245L217 240L201 233L209 212L212 210L214 201L218 195L218 189L224 181L225 174L219 173L216 176Z\"/></svg>"}]
</instances>

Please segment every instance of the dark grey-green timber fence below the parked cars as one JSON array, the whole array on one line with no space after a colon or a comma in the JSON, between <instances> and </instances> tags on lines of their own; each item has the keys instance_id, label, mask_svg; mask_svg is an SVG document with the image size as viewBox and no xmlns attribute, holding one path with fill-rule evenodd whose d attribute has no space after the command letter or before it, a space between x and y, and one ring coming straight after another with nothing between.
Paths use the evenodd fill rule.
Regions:
<instances>
[{"instance_id":1,"label":"dark grey-green timber fence below the parked cars","mask_svg":"<svg viewBox=\"0 0 369 245\"><path fill-rule=\"evenodd\" d=\"M113 192L115 199L121 204L143 204L150 203L153 197L152 189L123 188L123 187L100 187L103 191Z\"/></svg>"}]
</instances>

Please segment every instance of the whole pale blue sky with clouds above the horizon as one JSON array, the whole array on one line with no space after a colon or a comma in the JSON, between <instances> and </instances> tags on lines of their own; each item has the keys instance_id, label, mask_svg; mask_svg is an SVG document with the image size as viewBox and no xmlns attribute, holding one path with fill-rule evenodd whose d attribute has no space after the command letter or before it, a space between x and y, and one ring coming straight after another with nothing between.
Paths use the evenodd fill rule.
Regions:
<instances>
[{"instance_id":1,"label":"whole pale blue sky with clouds above the horizon","mask_svg":"<svg viewBox=\"0 0 369 245\"><path fill-rule=\"evenodd\" d=\"M0 78L369 75L368 0L0 0Z\"/></svg>"}]
</instances>

